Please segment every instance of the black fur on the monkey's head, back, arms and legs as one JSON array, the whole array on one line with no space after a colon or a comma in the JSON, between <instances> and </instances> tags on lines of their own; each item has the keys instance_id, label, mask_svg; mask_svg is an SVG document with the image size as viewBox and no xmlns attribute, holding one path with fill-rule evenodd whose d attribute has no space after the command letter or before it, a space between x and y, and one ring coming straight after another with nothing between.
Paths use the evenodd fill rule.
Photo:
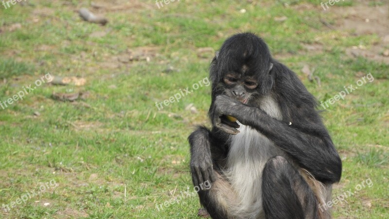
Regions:
<instances>
[{"instance_id":1,"label":"black fur on the monkey's head, back, arms and legs","mask_svg":"<svg viewBox=\"0 0 389 219\"><path fill-rule=\"evenodd\" d=\"M238 80L236 83L226 84L223 80L230 73L236 75ZM255 89L249 89L244 85L245 78L248 77L255 78L258 82ZM237 124L226 122L222 119L223 115L231 115L243 125L264 134L287 154L290 162L306 169L317 181L330 185L340 180L341 160L316 110L315 98L294 72L271 57L267 45L261 38L251 33L243 33L227 39L217 57L212 60L210 78L212 103L209 117L212 130L200 127L189 136L191 172L195 185L206 180L211 182L221 180L215 177L214 171L222 175L221 170L229 168L226 163L230 148L228 139L230 134L237 133L233 131ZM234 86L246 89L248 102L242 102L231 94ZM270 117L260 109L260 99L265 95L276 100L282 120ZM304 199L312 198L313 193L307 183L289 163L283 162L282 168L276 168L274 159L270 159L269 162L263 173L265 183L263 189L266 188L263 190L263 205L266 217L277 218L277 214L273 212L274 207L280 207L278 213L284 214L284 218L307 216L308 213L301 207L301 200L299 202L296 197L292 199L296 202L289 200L298 190L306 192ZM270 176L280 176L280 179ZM287 178L296 179L300 187L288 192L293 182L287 181ZM282 200L274 200L274 197L271 197L271 194L277 192L281 192L277 199ZM212 218L222 218L218 215L225 215L228 212L228 209L216 207L218 205L213 203L214 200L210 198L212 189L201 191L199 195L202 205L209 210ZM310 214L317 215L317 206L315 208L312 203L311 201L310 207L313 210ZM284 206L281 206L282 204Z\"/></svg>"}]
</instances>

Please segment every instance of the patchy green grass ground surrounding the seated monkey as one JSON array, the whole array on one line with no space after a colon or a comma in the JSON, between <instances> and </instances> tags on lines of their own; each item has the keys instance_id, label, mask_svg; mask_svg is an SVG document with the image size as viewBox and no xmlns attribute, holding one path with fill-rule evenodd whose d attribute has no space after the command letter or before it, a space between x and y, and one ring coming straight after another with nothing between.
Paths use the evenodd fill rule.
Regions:
<instances>
[{"instance_id":1,"label":"patchy green grass ground surrounding the seated monkey","mask_svg":"<svg viewBox=\"0 0 389 219\"><path fill-rule=\"evenodd\" d=\"M198 48L217 50L231 34L243 31L263 37L272 54L298 73L318 101L373 75L372 82L322 115L343 160L334 197L355 191L369 178L373 183L347 203L334 205L334 217L386 217L389 66L347 56L345 48L371 46L380 38L330 30L320 22L320 1L193 0L161 9L155 1L131 1L119 10L115 7L120 3L106 3L109 10L101 9L109 19L106 26L78 17L76 9L89 7L89 1L27 2L6 10L0 5L0 101L46 73L84 77L87 83L44 84L5 110L0 107L0 205L39 189L41 183L58 183L10 212L1 210L0 218L196 218L197 197L185 196L160 211L156 205L182 196L188 188L193 191L187 136L195 125L208 124L210 87L200 87L162 110L155 102L208 76L213 53L202 58ZM296 9L306 4L313 9ZM332 7L357 4L344 1ZM287 19L274 20L282 16ZM334 14L325 14L325 19L336 25ZM15 23L22 27L9 31ZM90 37L101 31L106 36ZM305 51L303 44L323 49ZM118 61L119 56L136 54L142 58ZM301 73L304 64L315 68L321 87ZM164 73L168 66L175 71ZM80 91L90 96L76 102L51 97L53 92ZM192 103L197 113L185 110Z\"/></svg>"}]
</instances>

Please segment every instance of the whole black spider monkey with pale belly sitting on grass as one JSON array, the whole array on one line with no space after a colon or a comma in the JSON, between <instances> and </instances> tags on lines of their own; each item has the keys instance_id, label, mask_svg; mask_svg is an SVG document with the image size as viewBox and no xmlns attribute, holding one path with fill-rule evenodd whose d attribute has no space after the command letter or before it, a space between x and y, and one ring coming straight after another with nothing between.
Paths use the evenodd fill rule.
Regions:
<instances>
[{"instance_id":1,"label":"whole black spider monkey with pale belly sitting on grass","mask_svg":"<svg viewBox=\"0 0 389 219\"><path fill-rule=\"evenodd\" d=\"M296 73L252 33L228 38L210 66L212 128L189 136L194 185L213 219L324 219L342 163ZM228 117L230 116L230 117ZM234 117L237 121L231 119Z\"/></svg>"}]
</instances>

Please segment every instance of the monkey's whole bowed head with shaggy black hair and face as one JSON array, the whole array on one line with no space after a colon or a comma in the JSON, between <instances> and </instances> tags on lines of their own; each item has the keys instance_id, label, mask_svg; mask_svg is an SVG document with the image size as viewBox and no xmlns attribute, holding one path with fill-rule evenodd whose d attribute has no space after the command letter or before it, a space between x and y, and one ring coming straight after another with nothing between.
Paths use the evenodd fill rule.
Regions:
<instances>
[{"instance_id":1,"label":"monkey's whole bowed head with shaggy black hair and face","mask_svg":"<svg viewBox=\"0 0 389 219\"><path fill-rule=\"evenodd\" d=\"M223 43L212 60L212 92L246 104L254 96L271 90L272 67L269 49L261 38L251 33L234 35Z\"/></svg>"}]
</instances>

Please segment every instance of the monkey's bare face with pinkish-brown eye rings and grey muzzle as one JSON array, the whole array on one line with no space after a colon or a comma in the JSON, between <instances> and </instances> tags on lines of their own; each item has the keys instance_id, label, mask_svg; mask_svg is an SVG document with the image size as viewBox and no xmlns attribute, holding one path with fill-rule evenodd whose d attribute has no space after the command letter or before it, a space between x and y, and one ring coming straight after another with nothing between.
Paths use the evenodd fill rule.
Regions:
<instances>
[{"instance_id":1,"label":"monkey's bare face with pinkish-brown eye rings and grey muzzle","mask_svg":"<svg viewBox=\"0 0 389 219\"><path fill-rule=\"evenodd\" d=\"M245 67L243 67L245 68ZM247 67L246 67L247 68ZM256 88L258 81L250 75L245 73L230 72L223 77L225 93L247 104L255 94L258 94Z\"/></svg>"}]
</instances>

